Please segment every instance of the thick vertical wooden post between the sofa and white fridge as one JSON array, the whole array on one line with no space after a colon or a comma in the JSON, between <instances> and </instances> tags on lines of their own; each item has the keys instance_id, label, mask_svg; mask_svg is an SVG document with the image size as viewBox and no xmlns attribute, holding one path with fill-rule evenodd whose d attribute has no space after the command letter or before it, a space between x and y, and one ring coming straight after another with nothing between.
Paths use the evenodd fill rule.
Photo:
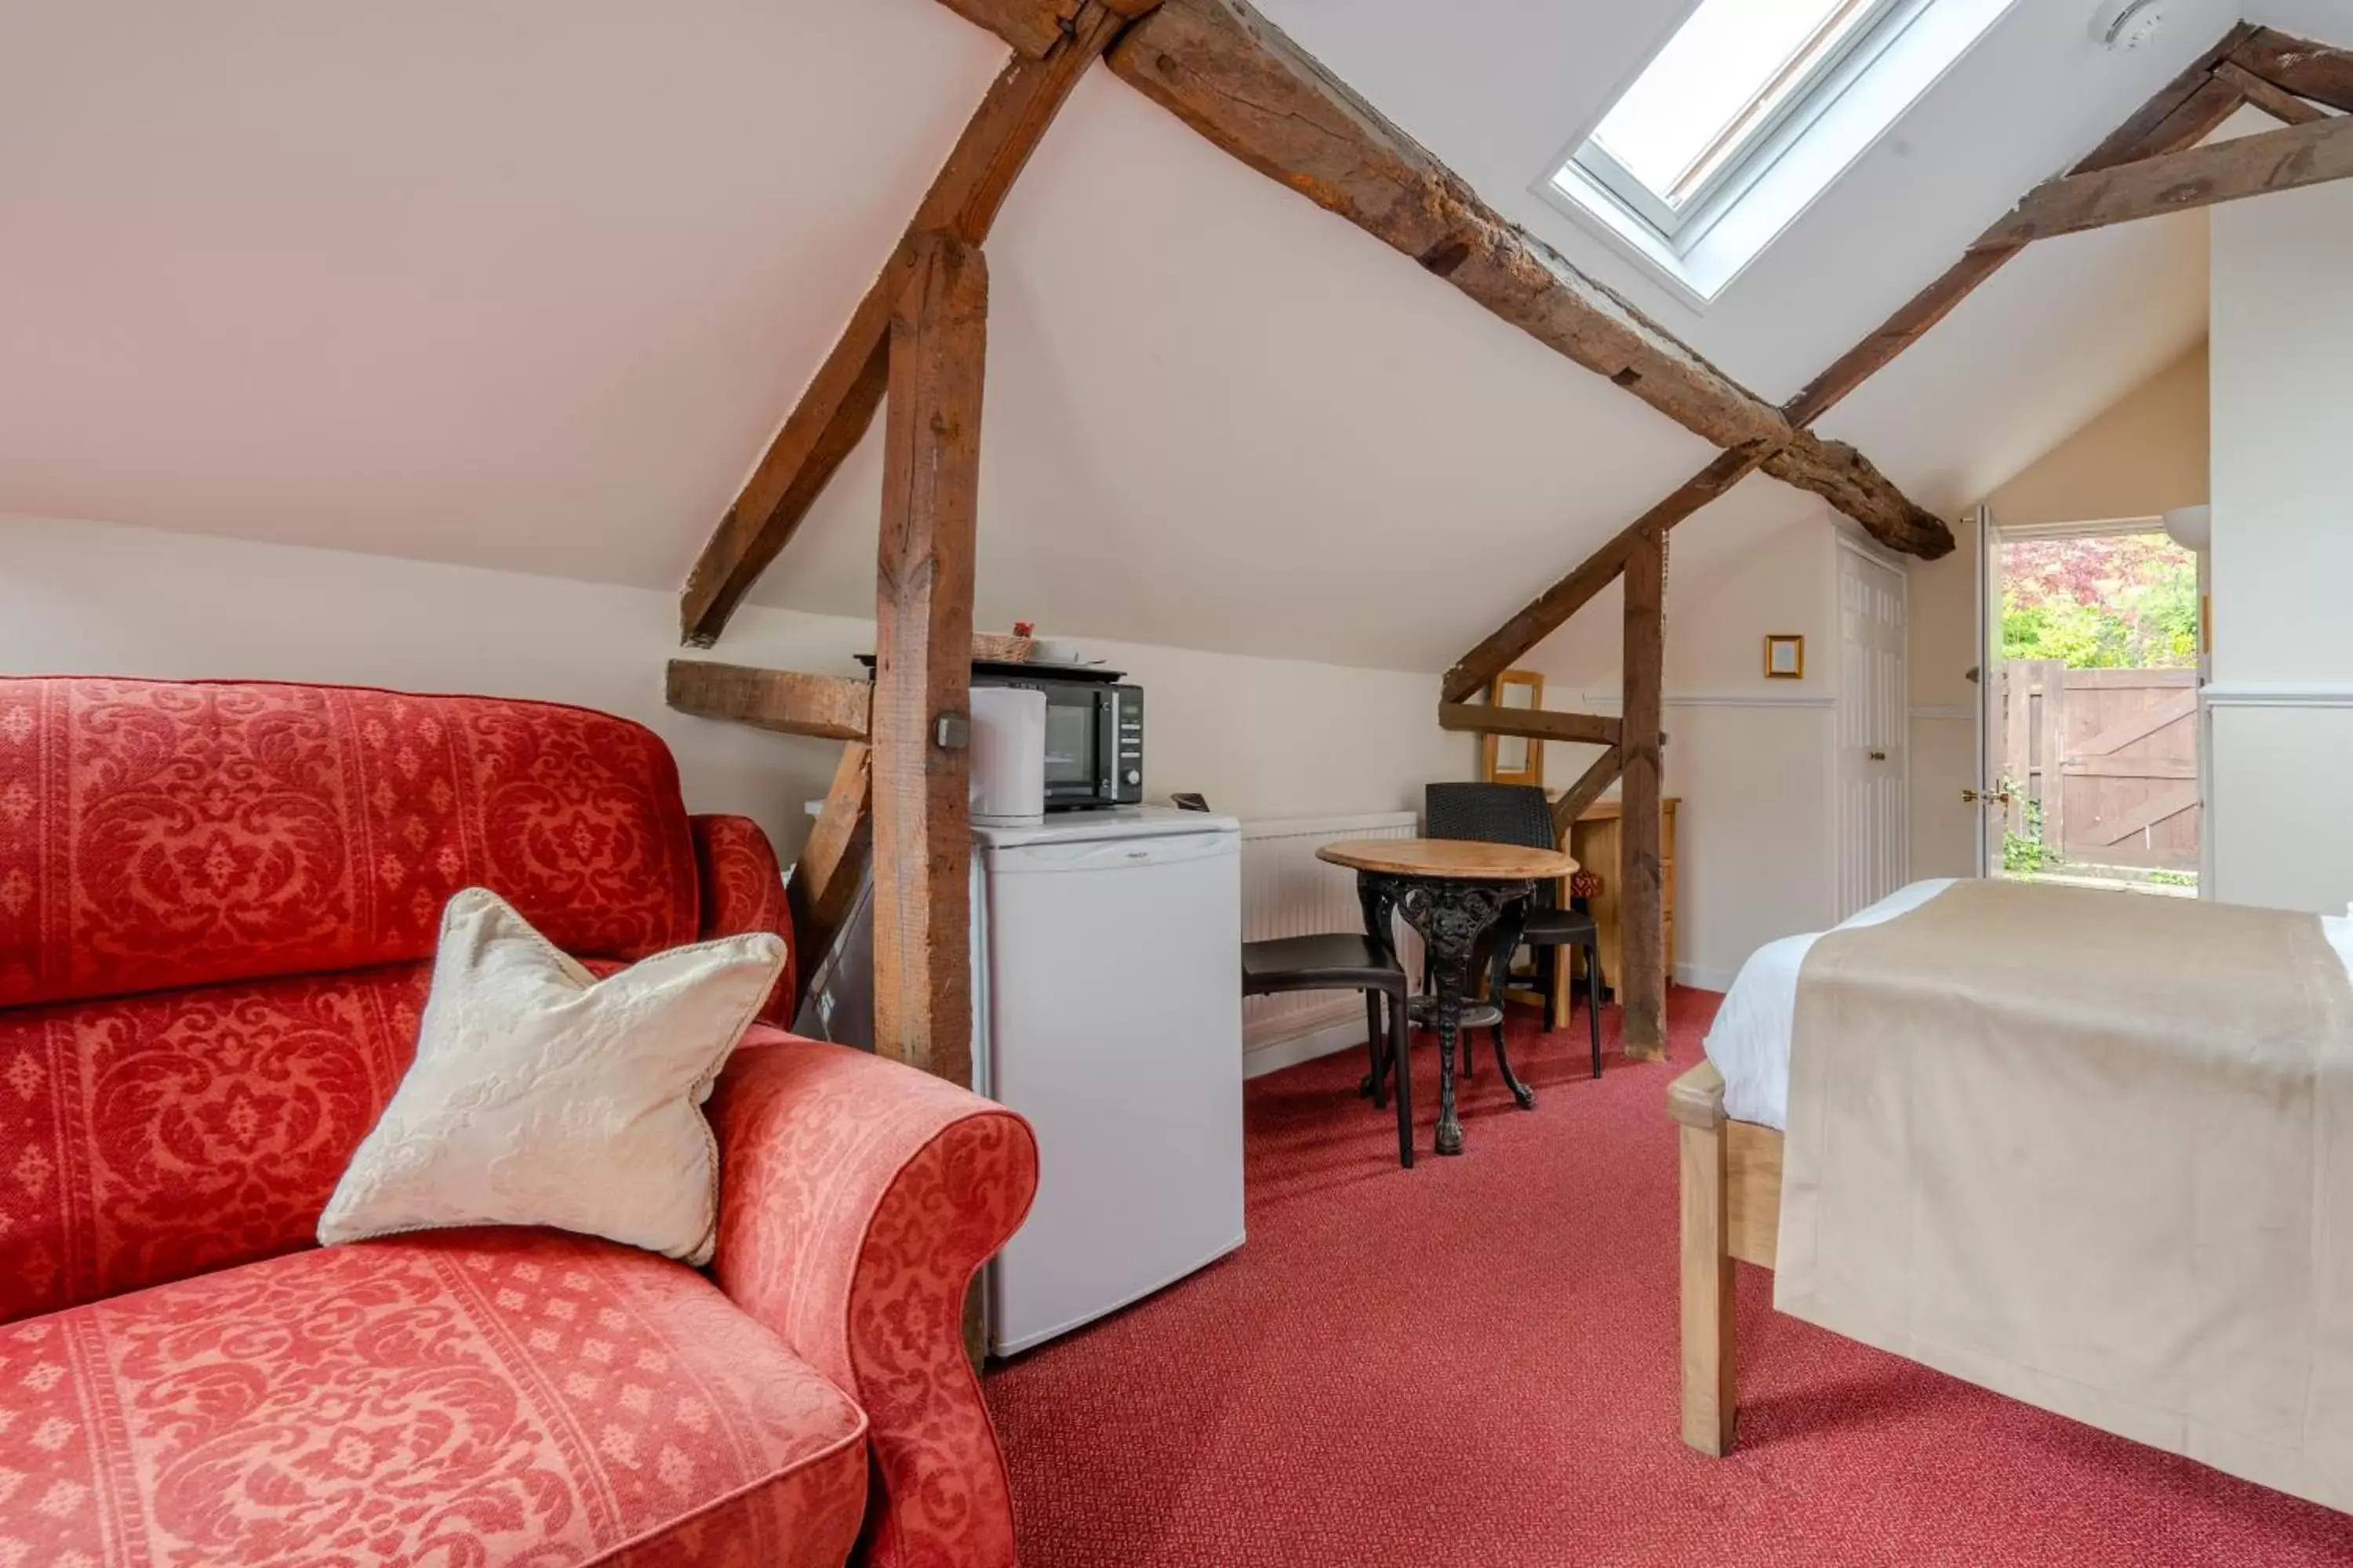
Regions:
<instances>
[{"instance_id":1,"label":"thick vertical wooden post between the sofa and white fridge","mask_svg":"<svg viewBox=\"0 0 2353 1568\"><path fill-rule=\"evenodd\" d=\"M892 310L875 564L875 1053L972 1081L972 550L988 266L915 242Z\"/></svg>"}]
</instances>

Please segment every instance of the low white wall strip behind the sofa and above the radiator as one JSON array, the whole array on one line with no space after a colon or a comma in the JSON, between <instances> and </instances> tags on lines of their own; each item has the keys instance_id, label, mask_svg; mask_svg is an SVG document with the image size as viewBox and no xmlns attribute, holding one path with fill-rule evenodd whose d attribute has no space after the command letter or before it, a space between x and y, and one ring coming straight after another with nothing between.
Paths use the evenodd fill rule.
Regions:
<instances>
[{"instance_id":1,"label":"low white wall strip behind the sofa and above the radiator","mask_svg":"<svg viewBox=\"0 0 2353 1568\"><path fill-rule=\"evenodd\" d=\"M1200 790L1245 818L1419 809L1468 778L1468 736L1433 719L1438 675L1092 644L1146 689L1146 790ZM266 677L482 691L600 708L656 729L687 804L807 837L840 748L671 712L675 595L0 515L0 672ZM741 611L708 654L849 675L873 623Z\"/></svg>"}]
</instances>

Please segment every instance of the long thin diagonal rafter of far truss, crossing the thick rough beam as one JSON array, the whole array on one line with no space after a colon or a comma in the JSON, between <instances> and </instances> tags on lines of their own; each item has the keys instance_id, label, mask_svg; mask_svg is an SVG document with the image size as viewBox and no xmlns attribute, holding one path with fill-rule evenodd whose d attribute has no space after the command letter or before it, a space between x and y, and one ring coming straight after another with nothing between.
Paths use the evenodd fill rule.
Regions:
<instances>
[{"instance_id":1,"label":"long thin diagonal rafter of far truss, crossing the thick rough beam","mask_svg":"<svg viewBox=\"0 0 2353 1568\"><path fill-rule=\"evenodd\" d=\"M2137 108L2120 127L2115 127L2115 132L2075 162L2075 167L2068 169L2068 176L2097 174L2137 160L2162 158L2205 141L2224 120L2247 103L2247 96L2238 87L2217 75L2219 68L2233 61L2242 68L2252 68L2245 52L2257 47L2264 33L2266 28L2257 28L2252 24L2238 24L2224 33L2212 49L2191 61L2191 66L2184 68L2172 82L2151 94L2151 99L2141 103L2141 108ZM2285 35L2273 35L2273 40L2282 38ZM2313 59L2320 54L2332 52L2304 45L2301 40L2285 40L2271 45L2261 59L2273 63L2294 61L2294 68L2311 78L2315 71ZM2348 78L2346 89L2353 92L2353 78ZM1944 270L1944 275L1904 301L1904 306L1899 306L1897 313L1889 315L1875 331L1800 388L1798 395L1781 407L1791 425L1805 430L1819 421L1854 388L1885 369L1889 360L1918 343L1929 327L1951 315L1960 301L1974 294L1988 277L2024 252L2028 242L2007 237L2002 233L2009 219L2002 219L1988 228L1951 268ZM1857 454L1857 458L1861 454ZM1678 522L1699 512L1758 468L1779 480L1802 482L1791 477L1788 470L1793 465L1786 449L1772 442L1722 451L1664 501L1652 505L1642 517L1626 524L1626 529L1612 536L1600 550L1572 567L1558 583L1537 595L1525 609L1520 609L1520 614L1464 654L1440 682L1440 703L1461 703L1482 691L1501 670L1508 670L1529 649L1560 630L1569 616L1593 602L1595 595L1609 588L1609 583L1614 583L1626 569L1635 543L1645 534L1652 529L1661 534L1673 529Z\"/></svg>"}]
</instances>

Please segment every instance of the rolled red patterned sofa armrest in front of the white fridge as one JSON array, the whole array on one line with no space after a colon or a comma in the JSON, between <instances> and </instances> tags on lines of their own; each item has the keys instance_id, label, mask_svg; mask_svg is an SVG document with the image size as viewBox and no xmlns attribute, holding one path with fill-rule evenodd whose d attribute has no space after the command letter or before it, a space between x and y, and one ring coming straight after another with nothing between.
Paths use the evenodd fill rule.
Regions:
<instances>
[{"instance_id":1,"label":"rolled red patterned sofa armrest in front of the white fridge","mask_svg":"<svg viewBox=\"0 0 2353 1568\"><path fill-rule=\"evenodd\" d=\"M720 1288L866 1410L866 1561L1014 1568L962 1312L1038 1192L1028 1124L913 1067L755 1027L711 1126Z\"/></svg>"}]
</instances>

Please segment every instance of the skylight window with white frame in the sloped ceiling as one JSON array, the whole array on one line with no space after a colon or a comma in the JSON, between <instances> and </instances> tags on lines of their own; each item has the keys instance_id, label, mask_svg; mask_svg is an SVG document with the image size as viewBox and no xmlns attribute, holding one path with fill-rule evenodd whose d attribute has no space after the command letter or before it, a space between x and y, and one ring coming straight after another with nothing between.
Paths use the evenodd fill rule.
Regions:
<instances>
[{"instance_id":1,"label":"skylight window with white frame in the sloped ceiling","mask_svg":"<svg viewBox=\"0 0 2353 1568\"><path fill-rule=\"evenodd\" d=\"M2017 0L1701 0L1539 190L1713 299Z\"/></svg>"}]
</instances>

